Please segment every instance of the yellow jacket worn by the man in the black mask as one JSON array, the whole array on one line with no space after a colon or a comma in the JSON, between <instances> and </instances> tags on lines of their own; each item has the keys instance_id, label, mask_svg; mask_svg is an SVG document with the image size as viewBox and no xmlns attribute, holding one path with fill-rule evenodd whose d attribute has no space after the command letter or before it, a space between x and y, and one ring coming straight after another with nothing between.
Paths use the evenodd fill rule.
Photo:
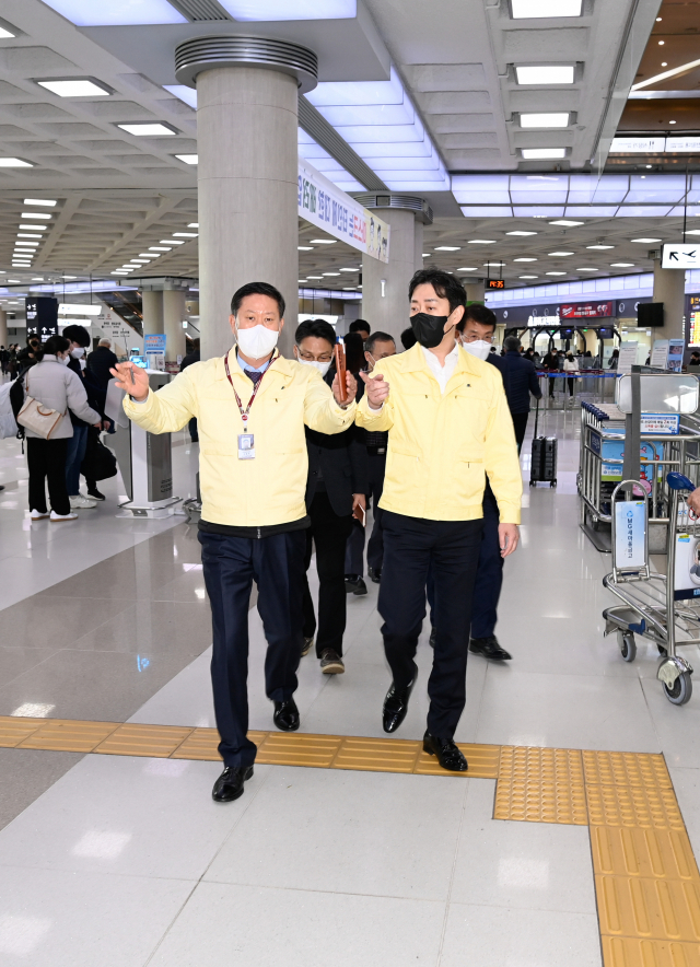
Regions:
<instances>
[{"instance_id":1,"label":"yellow jacket worn by the man in the black mask","mask_svg":"<svg viewBox=\"0 0 700 967\"><path fill-rule=\"evenodd\" d=\"M422 348L382 360L389 396L372 412L366 394L357 422L388 430L380 506L430 521L482 516L489 475L501 523L520 524L523 479L500 372L464 350L444 396Z\"/></svg>"}]
</instances>

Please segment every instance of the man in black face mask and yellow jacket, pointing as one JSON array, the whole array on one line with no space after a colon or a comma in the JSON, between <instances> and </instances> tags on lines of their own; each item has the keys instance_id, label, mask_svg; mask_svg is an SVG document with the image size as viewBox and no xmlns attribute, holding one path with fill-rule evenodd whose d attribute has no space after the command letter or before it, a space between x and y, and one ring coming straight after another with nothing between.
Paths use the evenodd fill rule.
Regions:
<instances>
[{"instance_id":1,"label":"man in black face mask and yellow jacket, pointing","mask_svg":"<svg viewBox=\"0 0 700 967\"><path fill-rule=\"evenodd\" d=\"M423 748L443 768L462 772L467 761L453 737L466 700L486 474L499 505L503 557L517 546L523 484L501 374L455 341L464 288L447 272L423 269L411 279L409 299L418 341L362 376L366 393L357 416L366 430L389 434L378 608L394 680L383 724L394 732L406 716L432 566L438 631Z\"/></svg>"}]
</instances>

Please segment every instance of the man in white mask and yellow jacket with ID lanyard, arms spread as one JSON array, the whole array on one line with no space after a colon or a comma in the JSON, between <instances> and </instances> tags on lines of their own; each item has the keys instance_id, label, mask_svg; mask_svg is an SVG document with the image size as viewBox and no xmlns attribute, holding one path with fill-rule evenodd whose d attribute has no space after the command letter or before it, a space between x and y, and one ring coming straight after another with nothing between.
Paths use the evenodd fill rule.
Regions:
<instances>
[{"instance_id":1,"label":"man in white mask and yellow jacket with ID lanyard, arms spread","mask_svg":"<svg viewBox=\"0 0 700 967\"><path fill-rule=\"evenodd\" d=\"M283 359L277 340L284 300L272 286L250 282L231 301L236 346L223 358L194 363L158 393L131 363L112 371L131 397L124 408L151 433L168 433L197 418L202 497L199 541L211 602L211 677L224 770L212 795L231 802L253 776L256 746L248 730L248 605L253 581L268 649L266 692L278 729L299 729L294 702L302 653L304 424L340 433L354 420L355 382L347 403L313 365Z\"/></svg>"}]
</instances>

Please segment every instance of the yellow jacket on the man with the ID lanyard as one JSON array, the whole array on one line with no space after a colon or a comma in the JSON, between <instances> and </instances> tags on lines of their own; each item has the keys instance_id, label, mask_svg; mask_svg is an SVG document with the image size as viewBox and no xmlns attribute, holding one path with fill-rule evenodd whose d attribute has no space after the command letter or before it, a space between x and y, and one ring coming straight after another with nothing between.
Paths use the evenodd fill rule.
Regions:
<instances>
[{"instance_id":1,"label":"yellow jacket on the man with the ID lanyard","mask_svg":"<svg viewBox=\"0 0 700 967\"><path fill-rule=\"evenodd\" d=\"M253 384L235 348L231 378L243 409ZM224 358L192 363L144 403L124 400L126 415L151 433L180 430L197 417L202 520L234 527L265 527L306 515L308 459L304 423L319 433L352 424L355 405L341 409L314 366L277 357L260 383L244 426L226 378ZM255 435L255 459L238 459L238 433Z\"/></svg>"}]
</instances>

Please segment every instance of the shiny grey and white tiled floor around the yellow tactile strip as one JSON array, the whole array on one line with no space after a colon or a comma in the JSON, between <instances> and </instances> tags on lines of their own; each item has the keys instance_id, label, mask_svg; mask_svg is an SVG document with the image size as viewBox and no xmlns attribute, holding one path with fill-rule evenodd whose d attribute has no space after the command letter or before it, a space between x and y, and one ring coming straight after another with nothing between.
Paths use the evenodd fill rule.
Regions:
<instances>
[{"instance_id":1,"label":"shiny grey and white tiled floor around the yellow tactile strip","mask_svg":"<svg viewBox=\"0 0 700 967\"><path fill-rule=\"evenodd\" d=\"M559 487L526 488L498 628L514 659L470 659L457 738L664 753L697 852L700 706L664 698L653 649L628 665L603 639L609 560L579 529L578 415L546 421ZM11 486L26 476L15 450L0 443ZM174 448L183 496L189 450ZM23 529L25 487L0 494L0 715L213 725L194 529L117 519L118 479L72 533ZM302 731L381 737L376 585L348 611L346 674L302 661ZM255 609L250 641L250 726L268 731ZM430 661L423 637L400 738L424 730ZM599 967L585 826L494 820L493 780L289 766L256 766L245 795L218 806L218 771L0 750L2 967Z\"/></svg>"}]
</instances>

